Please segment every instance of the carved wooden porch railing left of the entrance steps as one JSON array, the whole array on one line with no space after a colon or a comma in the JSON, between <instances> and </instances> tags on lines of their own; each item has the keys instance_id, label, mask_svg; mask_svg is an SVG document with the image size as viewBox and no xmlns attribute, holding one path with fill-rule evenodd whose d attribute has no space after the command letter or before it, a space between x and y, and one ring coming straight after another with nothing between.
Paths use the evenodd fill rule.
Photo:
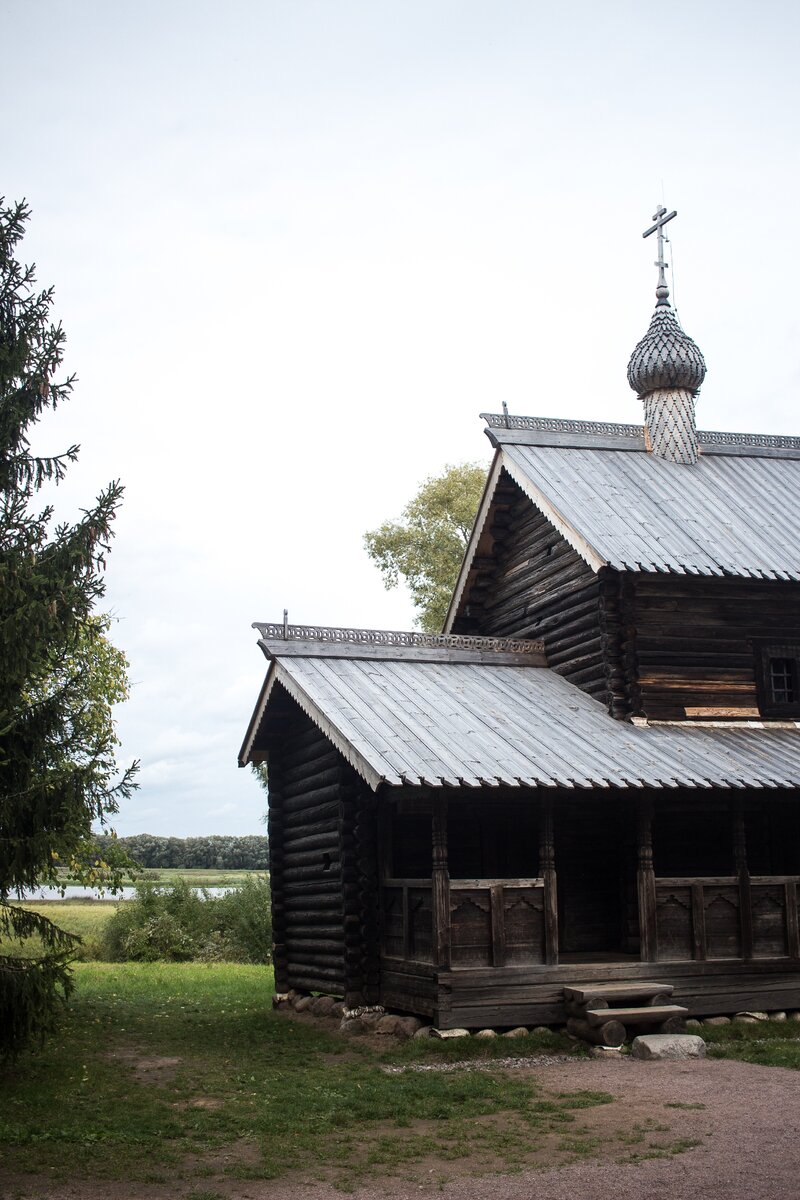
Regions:
<instances>
[{"instance_id":1,"label":"carved wooden porch railing left of the entrance steps","mask_svg":"<svg viewBox=\"0 0 800 1200\"><path fill-rule=\"evenodd\" d=\"M433 962L431 880L387 878L383 888L384 953ZM545 882L450 880L450 966L545 962Z\"/></svg>"}]
</instances>

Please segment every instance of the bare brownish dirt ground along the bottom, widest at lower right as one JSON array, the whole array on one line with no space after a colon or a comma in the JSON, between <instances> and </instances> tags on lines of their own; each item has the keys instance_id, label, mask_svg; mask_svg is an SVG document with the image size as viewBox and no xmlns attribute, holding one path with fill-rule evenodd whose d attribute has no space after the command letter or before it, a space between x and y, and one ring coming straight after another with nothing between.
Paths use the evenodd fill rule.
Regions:
<instances>
[{"instance_id":1,"label":"bare brownish dirt ground along the bottom, widest at lower right","mask_svg":"<svg viewBox=\"0 0 800 1200\"><path fill-rule=\"evenodd\" d=\"M164 1062L162 1069L169 1069ZM521 1068L529 1069L529 1068ZM614 1104L585 1109L575 1152L545 1139L536 1166L495 1174L474 1157L416 1163L403 1178L372 1180L353 1200L796 1200L800 1196L800 1073L714 1060L640 1063L631 1058L575 1061L535 1068L545 1092L606 1091ZM494 1118L483 1118L494 1120ZM507 1120L513 1120L509 1117ZM2 1200L341 1200L342 1193L305 1177L234 1180L231 1165L258 1162L242 1141L169 1184L55 1183L0 1169Z\"/></svg>"}]
</instances>

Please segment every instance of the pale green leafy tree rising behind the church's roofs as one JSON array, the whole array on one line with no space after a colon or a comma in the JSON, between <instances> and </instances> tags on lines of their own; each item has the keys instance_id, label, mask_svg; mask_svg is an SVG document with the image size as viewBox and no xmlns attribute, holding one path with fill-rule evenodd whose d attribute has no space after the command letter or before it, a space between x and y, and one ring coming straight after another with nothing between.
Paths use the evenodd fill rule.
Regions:
<instances>
[{"instance_id":1,"label":"pale green leafy tree rising behind the church's roofs","mask_svg":"<svg viewBox=\"0 0 800 1200\"><path fill-rule=\"evenodd\" d=\"M399 521L384 521L365 534L386 588L405 582L416 624L428 634L445 623L485 482L486 470L477 463L445 467L426 479Z\"/></svg>"}]
</instances>

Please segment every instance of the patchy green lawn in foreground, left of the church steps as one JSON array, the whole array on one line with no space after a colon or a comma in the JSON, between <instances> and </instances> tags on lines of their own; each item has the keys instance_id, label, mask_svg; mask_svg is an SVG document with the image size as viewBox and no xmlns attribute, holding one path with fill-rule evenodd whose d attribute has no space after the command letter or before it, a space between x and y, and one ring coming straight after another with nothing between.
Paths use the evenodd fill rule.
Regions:
<instances>
[{"instance_id":1,"label":"patchy green lawn in foreground, left of the church steps","mask_svg":"<svg viewBox=\"0 0 800 1200\"><path fill-rule=\"evenodd\" d=\"M587 1110L612 1100L545 1094L531 1075L491 1069L387 1074L387 1058L414 1063L434 1049L410 1042L379 1055L273 1013L269 967L92 962L76 978L60 1036L0 1081L7 1170L197 1180L198 1195L212 1190L215 1172L243 1180L297 1170L347 1189L423 1158L443 1170L464 1158L474 1170L515 1170L540 1151L548 1163L593 1154ZM462 1043L458 1056L565 1045L531 1036ZM453 1044L438 1056L455 1057Z\"/></svg>"}]
</instances>

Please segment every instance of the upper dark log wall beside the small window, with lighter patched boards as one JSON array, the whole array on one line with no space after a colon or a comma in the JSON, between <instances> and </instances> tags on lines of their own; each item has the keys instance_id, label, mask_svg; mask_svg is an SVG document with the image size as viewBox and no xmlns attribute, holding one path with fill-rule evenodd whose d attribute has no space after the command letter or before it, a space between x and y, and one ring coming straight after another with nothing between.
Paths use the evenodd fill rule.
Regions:
<instances>
[{"instance_id":1,"label":"upper dark log wall beside the small window, with lighter patched boards","mask_svg":"<svg viewBox=\"0 0 800 1200\"><path fill-rule=\"evenodd\" d=\"M800 642L800 586L783 581L637 575L621 580L632 712L661 720L687 709L758 709L753 642ZM712 715L712 714L709 714Z\"/></svg>"}]
</instances>

